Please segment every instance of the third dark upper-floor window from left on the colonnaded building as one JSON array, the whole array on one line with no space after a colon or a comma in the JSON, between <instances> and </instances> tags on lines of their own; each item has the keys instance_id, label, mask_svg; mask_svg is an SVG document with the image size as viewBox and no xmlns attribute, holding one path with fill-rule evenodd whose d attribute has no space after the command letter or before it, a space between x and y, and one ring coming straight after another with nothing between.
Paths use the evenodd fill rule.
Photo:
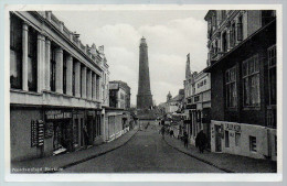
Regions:
<instances>
[{"instance_id":1,"label":"third dark upper-floor window from left on the colonnaded building","mask_svg":"<svg viewBox=\"0 0 287 186\"><path fill-rule=\"evenodd\" d=\"M50 63L50 86L51 91L56 90L56 51L55 47L51 44L51 63Z\"/></svg>"}]
</instances>

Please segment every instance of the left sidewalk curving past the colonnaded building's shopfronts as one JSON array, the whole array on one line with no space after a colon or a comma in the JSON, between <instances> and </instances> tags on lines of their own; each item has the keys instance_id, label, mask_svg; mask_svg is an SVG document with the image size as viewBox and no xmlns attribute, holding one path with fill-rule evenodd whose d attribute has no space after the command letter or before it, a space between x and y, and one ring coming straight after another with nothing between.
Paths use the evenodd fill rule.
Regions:
<instances>
[{"instance_id":1,"label":"left sidewalk curving past the colonnaded building's shopfronts","mask_svg":"<svg viewBox=\"0 0 287 186\"><path fill-rule=\"evenodd\" d=\"M67 154L11 163L11 173L54 173L78 163L95 158L125 145L136 133L138 127L109 143ZM28 169L30 168L30 169Z\"/></svg>"}]
</instances>

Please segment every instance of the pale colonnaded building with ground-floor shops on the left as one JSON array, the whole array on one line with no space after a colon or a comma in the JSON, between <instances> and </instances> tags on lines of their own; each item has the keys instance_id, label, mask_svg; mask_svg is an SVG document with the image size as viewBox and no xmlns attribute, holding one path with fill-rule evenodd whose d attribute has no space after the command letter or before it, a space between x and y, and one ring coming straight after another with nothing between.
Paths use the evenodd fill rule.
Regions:
<instances>
[{"instance_id":1,"label":"pale colonnaded building with ground-floor shops on the left","mask_svg":"<svg viewBox=\"0 0 287 186\"><path fill-rule=\"evenodd\" d=\"M102 61L51 11L10 12L12 161L103 141Z\"/></svg>"}]
</instances>

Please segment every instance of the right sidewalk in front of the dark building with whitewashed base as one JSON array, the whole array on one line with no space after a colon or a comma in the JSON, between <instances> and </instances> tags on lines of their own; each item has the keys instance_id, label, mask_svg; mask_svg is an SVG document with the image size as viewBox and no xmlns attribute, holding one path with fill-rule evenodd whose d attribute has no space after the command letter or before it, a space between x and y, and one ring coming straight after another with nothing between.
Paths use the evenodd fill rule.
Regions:
<instances>
[{"instance_id":1,"label":"right sidewalk in front of the dark building with whitewashed base","mask_svg":"<svg viewBox=\"0 0 287 186\"><path fill-rule=\"evenodd\" d=\"M240 155L226 153L212 153L204 151L203 154L199 150L189 144L189 147L183 146L183 142L178 139L166 135L166 142L178 151L188 154L196 160L205 162L227 173L276 173L276 162L269 160L257 160Z\"/></svg>"}]
</instances>

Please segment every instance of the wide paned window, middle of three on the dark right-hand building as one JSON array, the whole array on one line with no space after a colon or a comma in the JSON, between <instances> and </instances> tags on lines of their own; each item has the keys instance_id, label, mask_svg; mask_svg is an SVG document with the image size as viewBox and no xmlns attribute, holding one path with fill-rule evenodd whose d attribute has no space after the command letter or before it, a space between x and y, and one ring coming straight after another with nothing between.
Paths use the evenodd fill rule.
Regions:
<instances>
[{"instance_id":1,"label":"wide paned window, middle of three on the dark right-hand building","mask_svg":"<svg viewBox=\"0 0 287 186\"><path fill-rule=\"evenodd\" d=\"M242 64L243 106L259 107L259 63L258 55L254 55Z\"/></svg>"}]
</instances>

